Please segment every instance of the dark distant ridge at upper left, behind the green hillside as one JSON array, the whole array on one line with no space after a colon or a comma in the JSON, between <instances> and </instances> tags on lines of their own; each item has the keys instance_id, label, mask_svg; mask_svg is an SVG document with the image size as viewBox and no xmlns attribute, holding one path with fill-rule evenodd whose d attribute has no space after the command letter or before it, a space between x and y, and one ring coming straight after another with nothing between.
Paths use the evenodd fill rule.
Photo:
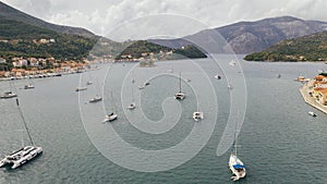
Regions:
<instances>
[{"instance_id":1,"label":"dark distant ridge at upper left, behind the green hillside","mask_svg":"<svg viewBox=\"0 0 327 184\"><path fill-rule=\"evenodd\" d=\"M80 27L70 27L63 25L56 25L51 23L47 23L40 19L31 16L24 12L21 12L3 2L0 1L0 16L3 16L8 20L13 20L17 22L23 22L25 24L34 25L41 28L47 28L57 33L70 34L70 35L78 35L86 38L95 37L96 35L92 32L80 28Z\"/></svg>"}]
</instances>

